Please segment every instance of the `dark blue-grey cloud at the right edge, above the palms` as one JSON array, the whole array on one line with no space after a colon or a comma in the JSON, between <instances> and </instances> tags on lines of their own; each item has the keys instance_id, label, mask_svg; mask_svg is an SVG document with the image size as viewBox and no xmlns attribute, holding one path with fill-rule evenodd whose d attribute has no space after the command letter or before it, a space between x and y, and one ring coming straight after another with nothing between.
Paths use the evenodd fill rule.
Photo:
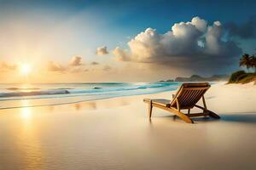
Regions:
<instances>
[{"instance_id":1,"label":"dark blue-grey cloud at the right edge, above the palms","mask_svg":"<svg viewBox=\"0 0 256 170\"><path fill-rule=\"evenodd\" d=\"M240 37L242 39L252 39L256 37L256 15L251 16L241 26L235 22L225 24L225 28L229 31L230 37Z\"/></svg>"}]
</instances>

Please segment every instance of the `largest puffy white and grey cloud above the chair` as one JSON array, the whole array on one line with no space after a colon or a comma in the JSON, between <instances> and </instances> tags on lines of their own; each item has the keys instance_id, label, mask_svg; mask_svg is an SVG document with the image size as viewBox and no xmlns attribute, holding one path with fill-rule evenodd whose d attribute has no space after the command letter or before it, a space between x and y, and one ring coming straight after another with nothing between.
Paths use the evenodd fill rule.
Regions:
<instances>
[{"instance_id":1,"label":"largest puffy white and grey cloud above the chair","mask_svg":"<svg viewBox=\"0 0 256 170\"><path fill-rule=\"evenodd\" d=\"M219 21L212 26L199 17L172 26L171 31L158 33L148 28L128 42L129 50L113 49L115 59L144 63L183 66L210 71L224 66L241 54L236 42L223 40L224 30Z\"/></svg>"}]
</instances>

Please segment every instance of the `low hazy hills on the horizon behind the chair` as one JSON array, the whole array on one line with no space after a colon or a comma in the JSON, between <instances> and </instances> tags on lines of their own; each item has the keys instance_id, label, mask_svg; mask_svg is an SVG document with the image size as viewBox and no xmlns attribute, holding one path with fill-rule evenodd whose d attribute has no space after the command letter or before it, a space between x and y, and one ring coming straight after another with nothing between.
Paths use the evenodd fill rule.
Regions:
<instances>
[{"instance_id":1,"label":"low hazy hills on the horizon behind the chair","mask_svg":"<svg viewBox=\"0 0 256 170\"><path fill-rule=\"evenodd\" d=\"M192 75L191 77L177 77L175 80L166 80L160 82L221 82L228 81L229 75L213 75L212 77L201 77L199 75Z\"/></svg>"}]
</instances>

